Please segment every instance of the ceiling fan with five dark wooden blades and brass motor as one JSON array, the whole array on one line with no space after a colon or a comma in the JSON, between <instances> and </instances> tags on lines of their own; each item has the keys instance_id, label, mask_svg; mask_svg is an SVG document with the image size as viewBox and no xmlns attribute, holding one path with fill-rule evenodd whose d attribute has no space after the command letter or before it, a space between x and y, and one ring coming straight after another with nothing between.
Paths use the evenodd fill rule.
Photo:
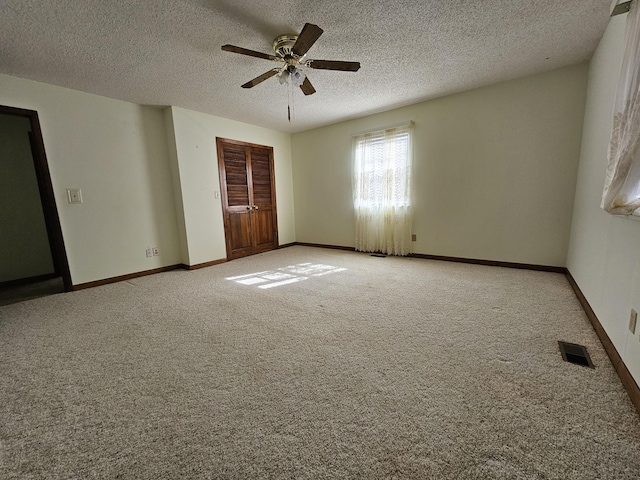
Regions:
<instances>
[{"instance_id":1,"label":"ceiling fan with five dark wooden blades and brass motor","mask_svg":"<svg viewBox=\"0 0 640 480\"><path fill-rule=\"evenodd\" d=\"M302 68L309 67L320 70L340 70L343 72L357 72L360 68L359 62L341 62L338 60L307 60L307 51L320 38L323 30L317 25L305 23L300 35L286 34L276 37L273 41L273 55L256 52L235 45L223 45L225 52L249 55L250 57L263 58L274 62L282 63L281 66L272 68L266 73L254 78L242 85L242 88L252 88L266 79L278 75L280 83L287 83L289 79L295 86L299 86L305 95L316 93L316 89L309 81Z\"/></svg>"}]
</instances>

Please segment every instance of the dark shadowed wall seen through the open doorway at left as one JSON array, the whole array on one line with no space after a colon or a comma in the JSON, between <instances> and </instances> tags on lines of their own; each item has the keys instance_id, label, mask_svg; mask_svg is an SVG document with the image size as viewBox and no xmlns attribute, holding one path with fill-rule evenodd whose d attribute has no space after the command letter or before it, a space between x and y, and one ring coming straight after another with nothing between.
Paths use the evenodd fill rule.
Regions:
<instances>
[{"instance_id":1,"label":"dark shadowed wall seen through the open doorway at left","mask_svg":"<svg viewBox=\"0 0 640 480\"><path fill-rule=\"evenodd\" d=\"M26 117L0 115L0 282L54 273Z\"/></svg>"}]
</instances>

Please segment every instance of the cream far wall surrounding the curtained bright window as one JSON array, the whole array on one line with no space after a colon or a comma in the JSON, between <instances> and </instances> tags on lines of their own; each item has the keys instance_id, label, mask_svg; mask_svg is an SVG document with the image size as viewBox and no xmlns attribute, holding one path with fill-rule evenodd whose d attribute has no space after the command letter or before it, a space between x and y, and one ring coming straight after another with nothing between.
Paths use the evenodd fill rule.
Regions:
<instances>
[{"instance_id":1,"label":"cream far wall surrounding the curtained bright window","mask_svg":"<svg viewBox=\"0 0 640 480\"><path fill-rule=\"evenodd\" d=\"M354 245L351 137L412 120L414 253L565 266L587 65L292 137L296 238Z\"/></svg>"}]
</instances>

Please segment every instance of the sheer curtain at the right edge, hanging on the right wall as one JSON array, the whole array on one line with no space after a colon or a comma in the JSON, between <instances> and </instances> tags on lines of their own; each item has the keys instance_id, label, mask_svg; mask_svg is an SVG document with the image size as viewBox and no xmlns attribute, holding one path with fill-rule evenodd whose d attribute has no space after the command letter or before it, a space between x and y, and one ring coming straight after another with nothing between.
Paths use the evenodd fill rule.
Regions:
<instances>
[{"instance_id":1,"label":"sheer curtain at the right edge, hanging on the right wall","mask_svg":"<svg viewBox=\"0 0 640 480\"><path fill-rule=\"evenodd\" d=\"M627 14L601 207L615 215L640 214L640 0Z\"/></svg>"}]
</instances>

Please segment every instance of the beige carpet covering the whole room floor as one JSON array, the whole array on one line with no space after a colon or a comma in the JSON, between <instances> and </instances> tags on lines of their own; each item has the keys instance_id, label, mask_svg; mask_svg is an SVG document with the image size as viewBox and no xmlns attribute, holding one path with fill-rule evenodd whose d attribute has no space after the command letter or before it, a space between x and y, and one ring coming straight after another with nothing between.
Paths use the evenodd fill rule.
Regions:
<instances>
[{"instance_id":1,"label":"beige carpet covering the whole room floor","mask_svg":"<svg viewBox=\"0 0 640 480\"><path fill-rule=\"evenodd\" d=\"M638 479L640 421L563 275L291 247L0 307L0 478Z\"/></svg>"}]
</instances>

